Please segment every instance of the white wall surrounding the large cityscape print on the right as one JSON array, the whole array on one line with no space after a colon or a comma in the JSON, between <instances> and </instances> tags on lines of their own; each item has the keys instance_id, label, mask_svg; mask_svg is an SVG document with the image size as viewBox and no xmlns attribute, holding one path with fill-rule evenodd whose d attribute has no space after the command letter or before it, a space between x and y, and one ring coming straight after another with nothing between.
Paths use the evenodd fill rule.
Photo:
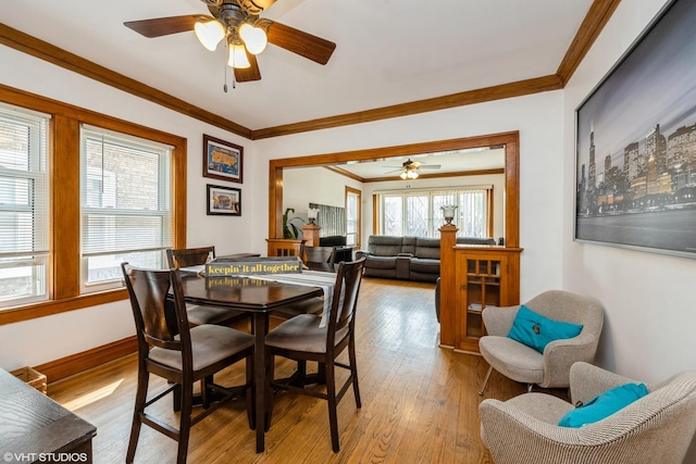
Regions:
<instances>
[{"instance_id":1,"label":"white wall surrounding the large cityscape print on the right","mask_svg":"<svg viewBox=\"0 0 696 464\"><path fill-rule=\"evenodd\" d=\"M598 363L644 381L696 368L696 261L573 242L574 110L663 3L621 2L564 90L563 286L606 308Z\"/></svg>"}]
</instances>

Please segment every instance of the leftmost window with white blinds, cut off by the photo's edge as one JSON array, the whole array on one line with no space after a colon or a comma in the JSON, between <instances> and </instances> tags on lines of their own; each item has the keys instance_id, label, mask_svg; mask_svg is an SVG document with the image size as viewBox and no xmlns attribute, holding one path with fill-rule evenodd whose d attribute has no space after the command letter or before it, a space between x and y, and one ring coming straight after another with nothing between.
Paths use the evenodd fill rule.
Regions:
<instances>
[{"instance_id":1,"label":"leftmost window with white blinds, cut off by the photo's edge","mask_svg":"<svg viewBox=\"0 0 696 464\"><path fill-rule=\"evenodd\" d=\"M49 120L0 105L0 308L48 299Z\"/></svg>"}]
</instances>

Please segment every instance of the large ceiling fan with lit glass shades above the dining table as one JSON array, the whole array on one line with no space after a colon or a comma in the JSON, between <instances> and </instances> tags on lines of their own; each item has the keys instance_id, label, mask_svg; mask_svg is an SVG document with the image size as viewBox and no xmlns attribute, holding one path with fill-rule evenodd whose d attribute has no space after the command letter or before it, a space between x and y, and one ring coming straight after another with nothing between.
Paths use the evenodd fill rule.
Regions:
<instances>
[{"instance_id":1,"label":"large ceiling fan with lit glass shades above the dining table","mask_svg":"<svg viewBox=\"0 0 696 464\"><path fill-rule=\"evenodd\" d=\"M326 64L336 48L334 42L260 17L276 0L201 1L212 16L189 14L123 24L148 38L195 30L198 40L211 51L224 38L229 49L227 64L234 68L235 79L239 83L261 79L256 55L265 49L266 42L319 64Z\"/></svg>"}]
</instances>

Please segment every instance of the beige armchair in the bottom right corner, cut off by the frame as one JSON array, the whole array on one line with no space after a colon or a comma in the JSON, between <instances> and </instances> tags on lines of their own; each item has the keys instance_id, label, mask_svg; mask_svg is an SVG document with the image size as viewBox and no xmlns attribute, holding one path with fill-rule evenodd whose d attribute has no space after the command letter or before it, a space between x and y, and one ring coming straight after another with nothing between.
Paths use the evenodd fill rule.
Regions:
<instances>
[{"instance_id":1,"label":"beige armchair in the bottom right corner, cut off by the frame","mask_svg":"<svg viewBox=\"0 0 696 464\"><path fill-rule=\"evenodd\" d=\"M696 371L648 385L648 394L581 428L559 427L577 401L635 380L587 363L570 372L571 403L545 393L478 406L481 437L496 464L681 464L696 431Z\"/></svg>"}]
</instances>

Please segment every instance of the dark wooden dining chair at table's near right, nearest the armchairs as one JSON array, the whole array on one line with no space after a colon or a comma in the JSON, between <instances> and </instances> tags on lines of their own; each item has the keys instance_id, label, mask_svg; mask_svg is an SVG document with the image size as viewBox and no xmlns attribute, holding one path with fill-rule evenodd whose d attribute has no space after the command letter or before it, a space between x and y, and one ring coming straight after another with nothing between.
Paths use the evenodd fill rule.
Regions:
<instances>
[{"instance_id":1,"label":"dark wooden dining chair at table's near right, nearest the armchairs","mask_svg":"<svg viewBox=\"0 0 696 464\"><path fill-rule=\"evenodd\" d=\"M269 417L266 427L271 424L273 411L273 393L270 387L326 400L334 452L339 451L336 406L351 385L356 405L361 407L356 363L356 306L363 268L364 258L338 264L328 317L301 314L278 325L265 337L265 379L268 383L265 401ZM348 349L348 364L336 361L336 358L346 348ZM315 386L296 386L288 380L275 380L273 378L275 356L298 362L319 363L319 377L325 378L325 391L322 391L324 388L316 389ZM349 375L338 389L336 389L335 367L349 371Z\"/></svg>"}]
</instances>

